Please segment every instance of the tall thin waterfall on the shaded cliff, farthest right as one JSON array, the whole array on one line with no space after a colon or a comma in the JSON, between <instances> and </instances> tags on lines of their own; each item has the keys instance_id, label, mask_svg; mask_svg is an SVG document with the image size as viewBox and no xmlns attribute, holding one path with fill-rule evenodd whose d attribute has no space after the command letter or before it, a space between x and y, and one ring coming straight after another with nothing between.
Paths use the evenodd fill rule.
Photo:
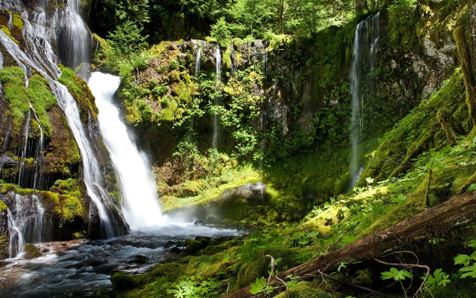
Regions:
<instances>
[{"instance_id":1,"label":"tall thin waterfall on the shaded cliff, farthest right","mask_svg":"<svg viewBox=\"0 0 476 298\"><path fill-rule=\"evenodd\" d=\"M368 16L357 24L354 46L353 62L350 70L350 94L352 115L350 126L350 139L352 156L350 161L350 182L352 188L360 178L363 168L362 157L362 108L368 97L368 90L373 88L373 80L369 75L375 67L375 54L378 50L380 12ZM367 92L364 92L366 90Z\"/></svg>"}]
</instances>

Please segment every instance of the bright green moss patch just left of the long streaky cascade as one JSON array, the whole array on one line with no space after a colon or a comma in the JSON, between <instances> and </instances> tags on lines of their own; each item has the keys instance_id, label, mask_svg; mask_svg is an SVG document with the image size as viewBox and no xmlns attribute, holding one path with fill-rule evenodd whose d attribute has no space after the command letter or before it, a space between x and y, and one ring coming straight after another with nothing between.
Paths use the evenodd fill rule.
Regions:
<instances>
[{"instance_id":1,"label":"bright green moss patch just left of the long streaky cascade","mask_svg":"<svg viewBox=\"0 0 476 298\"><path fill-rule=\"evenodd\" d=\"M35 74L28 80L28 98L31 105L35 109L35 113L40 120L43 133L46 137L50 137L52 127L47 111L49 111L58 101L51 93L49 83L40 75Z\"/></svg>"}]
</instances>

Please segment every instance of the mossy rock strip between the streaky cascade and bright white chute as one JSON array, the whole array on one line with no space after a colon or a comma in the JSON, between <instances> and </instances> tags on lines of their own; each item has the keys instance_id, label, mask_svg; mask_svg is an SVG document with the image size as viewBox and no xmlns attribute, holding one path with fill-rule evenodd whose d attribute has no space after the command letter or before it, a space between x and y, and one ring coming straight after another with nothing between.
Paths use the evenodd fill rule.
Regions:
<instances>
[{"instance_id":1,"label":"mossy rock strip between the streaky cascade and bright white chute","mask_svg":"<svg viewBox=\"0 0 476 298\"><path fill-rule=\"evenodd\" d=\"M58 82L68 87L69 92L78 103L79 112L81 113L81 121L87 123L89 113L95 120L97 120L98 107L96 106L94 96L89 90L88 84L77 77L69 68L64 67L61 64L59 64L59 67L61 70L61 76L58 78Z\"/></svg>"}]
</instances>

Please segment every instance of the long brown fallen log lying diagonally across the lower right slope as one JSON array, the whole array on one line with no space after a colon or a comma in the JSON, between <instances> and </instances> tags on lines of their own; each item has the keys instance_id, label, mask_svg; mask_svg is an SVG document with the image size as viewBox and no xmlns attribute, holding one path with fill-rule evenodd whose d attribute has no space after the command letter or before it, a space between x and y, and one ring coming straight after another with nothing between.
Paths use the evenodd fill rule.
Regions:
<instances>
[{"instance_id":1,"label":"long brown fallen log lying diagonally across the lower right slope","mask_svg":"<svg viewBox=\"0 0 476 298\"><path fill-rule=\"evenodd\" d=\"M281 279L286 276L300 276L302 280L311 280L320 276L320 272L333 272L342 262L356 262L372 259L421 239L433 238L441 231L472 222L476 219L476 191L458 195L437 206L387 227L373 235L349 243L325 255L288 269L278 274ZM433 235L433 236L432 236ZM441 236L438 234L438 236ZM224 298L259 297L249 292L249 287L228 293Z\"/></svg>"}]
</instances>

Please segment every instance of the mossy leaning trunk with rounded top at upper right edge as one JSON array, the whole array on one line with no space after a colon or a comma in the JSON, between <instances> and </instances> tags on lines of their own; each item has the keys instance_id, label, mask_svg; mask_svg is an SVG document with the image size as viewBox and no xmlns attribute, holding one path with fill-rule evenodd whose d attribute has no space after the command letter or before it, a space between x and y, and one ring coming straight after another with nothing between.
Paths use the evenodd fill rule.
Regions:
<instances>
[{"instance_id":1,"label":"mossy leaning trunk with rounded top at upper right edge","mask_svg":"<svg viewBox=\"0 0 476 298\"><path fill-rule=\"evenodd\" d=\"M459 60L461 61L461 68L463 69L466 86L466 104L469 108L469 116L473 121L473 127L476 127L475 77L463 26L456 27L455 31L453 31L453 37L456 41Z\"/></svg>"}]
</instances>

